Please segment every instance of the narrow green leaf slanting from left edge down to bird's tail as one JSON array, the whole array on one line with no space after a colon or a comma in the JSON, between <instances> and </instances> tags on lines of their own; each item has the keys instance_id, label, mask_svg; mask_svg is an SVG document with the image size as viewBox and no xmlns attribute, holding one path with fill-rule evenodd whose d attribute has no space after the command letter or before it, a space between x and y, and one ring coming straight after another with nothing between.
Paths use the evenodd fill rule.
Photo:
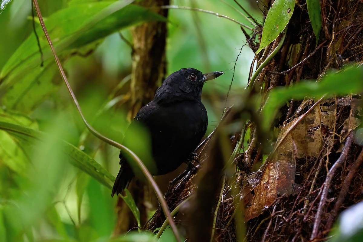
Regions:
<instances>
[{"instance_id":1,"label":"narrow green leaf slanting from left edge down to bird's tail","mask_svg":"<svg viewBox=\"0 0 363 242\"><path fill-rule=\"evenodd\" d=\"M44 132L12 123L0 122L0 130L6 131L9 135L17 138L18 140L24 139L24 142L21 142L22 146L27 143L31 147L32 145L36 145L35 141L45 140L45 138L48 137ZM94 179L101 182L107 188L112 188L115 177L106 171L106 169L103 168L100 164L98 164L97 161L93 160L86 153L80 151L74 145L62 140L57 141L57 147L65 155L67 155L69 158L68 161L72 165L94 177Z\"/></svg>"}]
</instances>

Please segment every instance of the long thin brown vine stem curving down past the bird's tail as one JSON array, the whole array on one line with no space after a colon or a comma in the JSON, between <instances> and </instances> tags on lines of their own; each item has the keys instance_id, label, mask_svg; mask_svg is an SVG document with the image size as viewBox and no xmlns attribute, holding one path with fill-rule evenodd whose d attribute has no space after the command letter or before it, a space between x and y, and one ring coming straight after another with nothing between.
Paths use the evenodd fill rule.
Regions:
<instances>
[{"instance_id":1,"label":"long thin brown vine stem curving down past the bird's tail","mask_svg":"<svg viewBox=\"0 0 363 242\"><path fill-rule=\"evenodd\" d=\"M35 10L37 12L37 15L38 15L38 19L40 21L40 24L42 26L42 29L43 29L43 32L44 32L44 35L48 41L48 44L50 46L50 49L52 50L52 53L53 53L53 56L54 56L54 59L57 63L57 67L58 67L58 70L62 76L62 79L68 89L68 92L74 102L74 104L76 105L77 107L77 110L78 110L78 113L79 115L81 116L82 120L83 120L83 123L85 124L85 126L87 127L87 129L91 132L91 134L93 134L94 136L96 136L98 139L102 140L102 141L105 141L107 144L110 144L116 148L119 148L123 151L125 151L128 155L130 155L132 157L132 159L134 159L134 161L136 162L136 164L138 164L139 168L141 169L141 171L144 173L145 177L147 178L148 182L152 185L152 187L154 188L154 191L156 193L156 196L158 197L159 199L159 202L160 202L160 205L161 207L163 208L163 212L164 214L166 215L166 217L169 219L170 221L170 226L173 230L173 233L176 237L176 240L178 242L181 242L180 241L180 235L179 235L179 232L178 232L178 229L176 228L176 225L175 225L175 222L174 220L172 220L172 217L170 215L170 211L168 209L168 205L163 197L163 194L159 188L159 186L156 184L154 178L152 177L151 173L148 171L148 169L146 168L146 166L144 165L144 163L140 160L140 158L138 156L135 155L134 152L132 152L129 148L117 143L116 141L114 140L111 140L105 136L103 136L102 134L100 134L97 130L95 130L92 126L90 126L90 124L87 123L85 117L83 116L83 113L82 113L82 110L81 110L81 107L79 106L79 103L77 101L77 98L76 98L76 95L74 95L73 93L73 90L72 88L70 87L69 83L68 83L68 80L67 80L67 77L64 73L64 70L63 70L63 67L61 65L61 62L57 56L57 53L56 53L56 50L54 49L54 46L53 46L53 43L52 43L52 40L50 39L49 37L49 33L48 31L46 30L46 27L45 27L45 24L44 24L44 20L43 20L43 17L41 15L41 12L40 12L40 9L39 9L39 5L38 5L38 1L37 0L33 0L33 3L34 3L34 7L35 7Z\"/></svg>"}]
</instances>

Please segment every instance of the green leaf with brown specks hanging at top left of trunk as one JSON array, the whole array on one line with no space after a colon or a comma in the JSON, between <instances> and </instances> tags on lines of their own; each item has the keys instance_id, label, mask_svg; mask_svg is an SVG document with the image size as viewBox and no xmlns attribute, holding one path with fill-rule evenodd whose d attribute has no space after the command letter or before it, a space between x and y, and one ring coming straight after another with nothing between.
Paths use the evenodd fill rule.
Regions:
<instances>
[{"instance_id":1,"label":"green leaf with brown specks hanging at top left of trunk","mask_svg":"<svg viewBox=\"0 0 363 242\"><path fill-rule=\"evenodd\" d=\"M274 41L278 35L284 31L293 15L295 7L294 0L276 0L267 13L264 29L262 30L260 48L258 54L268 44Z\"/></svg>"}]
</instances>

